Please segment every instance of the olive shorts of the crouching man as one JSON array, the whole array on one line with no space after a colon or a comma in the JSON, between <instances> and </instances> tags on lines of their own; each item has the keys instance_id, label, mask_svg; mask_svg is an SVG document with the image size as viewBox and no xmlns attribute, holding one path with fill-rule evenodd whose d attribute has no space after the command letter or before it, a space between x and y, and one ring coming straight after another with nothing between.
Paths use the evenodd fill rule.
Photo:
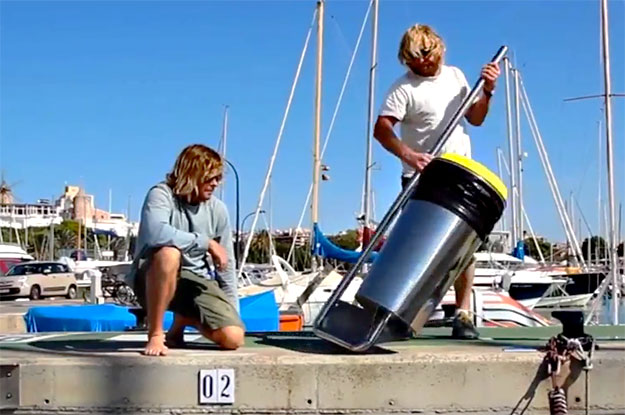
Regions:
<instances>
[{"instance_id":1,"label":"olive shorts of the crouching man","mask_svg":"<svg viewBox=\"0 0 625 415\"><path fill-rule=\"evenodd\" d=\"M139 268L135 278L137 299L141 307L146 310L145 277L147 264L148 261ZM209 330L217 330L227 326L245 328L239 313L230 303L217 281L184 269L180 270L178 274L176 292L167 309L184 317L199 320Z\"/></svg>"}]
</instances>

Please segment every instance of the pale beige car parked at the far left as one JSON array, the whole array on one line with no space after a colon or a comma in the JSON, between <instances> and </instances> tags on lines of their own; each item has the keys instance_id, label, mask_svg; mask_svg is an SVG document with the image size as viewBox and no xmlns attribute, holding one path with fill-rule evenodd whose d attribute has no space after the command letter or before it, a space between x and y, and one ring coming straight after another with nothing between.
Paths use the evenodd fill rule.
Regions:
<instances>
[{"instance_id":1,"label":"pale beige car parked at the far left","mask_svg":"<svg viewBox=\"0 0 625 415\"><path fill-rule=\"evenodd\" d=\"M65 296L76 298L76 277L65 264L59 262L24 262L11 267L0 276L1 297Z\"/></svg>"}]
</instances>

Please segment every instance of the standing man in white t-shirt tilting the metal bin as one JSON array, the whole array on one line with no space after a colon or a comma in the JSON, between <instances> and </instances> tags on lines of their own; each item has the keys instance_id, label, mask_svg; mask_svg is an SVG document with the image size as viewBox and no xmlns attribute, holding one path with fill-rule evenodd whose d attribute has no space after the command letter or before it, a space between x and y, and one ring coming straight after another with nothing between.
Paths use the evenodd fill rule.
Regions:
<instances>
[{"instance_id":1,"label":"standing man in white t-shirt tilting the metal bin","mask_svg":"<svg viewBox=\"0 0 625 415\"><path fill-rule=\"evenodd\" d=\"M408 71L391 86L378 120L374 136L382 146L402 162L402 187L415 171L422 171L432 160L429 152L446 125L470 92L462 71L444 62L445 44L427 25L416 24L406 31L399 45L399 61ZM482 125L499 76L499 66L489 63L482 68L482 95L465 114L475 126ZM401 124L401 138L394 131ZM471 142L464 121L452 132L443 148L446 153L471 157ZM452 336L475 339L479 333L470 313L471 287L475 265L471 264L454 284L456 316Z\"/></svg>"}]
</instances>

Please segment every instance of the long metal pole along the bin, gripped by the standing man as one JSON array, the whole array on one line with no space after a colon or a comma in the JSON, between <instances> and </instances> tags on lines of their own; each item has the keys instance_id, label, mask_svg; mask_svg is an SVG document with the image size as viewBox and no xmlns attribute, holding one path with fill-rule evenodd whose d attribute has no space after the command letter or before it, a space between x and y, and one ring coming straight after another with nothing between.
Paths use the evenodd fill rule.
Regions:
<instances>
[{"instance_id":1,"label":"long metal pole along the bin, gripped by the standing man","mask_svg":"<svg viewBox=\"0 0 625 415\"><path fill-rule=\"evenodd\" d=\"M501 59L504 57L507 51L508 51L507 46L501 46L499 50L497 51L497 53L495 54L495 56L493 56L493 58L491 59L491 62L498 63L499 61L501 61ZM477 95L481 92L483 86L484 86L484 79L480 78L473 86L473 89L471 90L469 95L464 99L460 107L456 110L452 118L449 120L447 126L441 133L436 144L434 145L434 148L432 149L431 154L438 155L438 153L440 153L442 148L445 146L445 143L451 136L452 132L454 131L454 129L460 122L460 119L464 116L464 114L466 114L467 110L469 109L469 106L472 105ZM397 198L395 199L395 201L393 202L389 210L386 212L386 214L380 221L380 224L378 225L376 232L373 234L371 240L369 241L367 246L364 247L362 254L360 255L360 257L358 257L358 261L356 261L356 264L354 264L354 266L349 271L349 273L345 277L343 277L343 279L338 284L334 292L332 292L332 295L330 296L330 298L323 305L323 308L321 309L321 311L319 312L319 315L317 316L317 319L315 320L315 326L317 326L318 323L321 322L325 318L325 316L328 314L328 311L330 310L330 307L336 302L336 300L338 300L341 297L341 295L343 294L343 292L345 291L349 283L354 279L356 274L360 271L360 268L364 265L365 261L369 257L369 254L371 254L371 252L373 251L373 248L380 241L380 239L382 238L382 235L384 235L384 232L386 232L386 230L389 228L391 223L393 223L397 213L400 211L400 209L406 204L406 202L410 198L412 191L414 190L415 186L417 185L417 182L419 181L420 175L421 174L419 172L415 172L410 178L410 182L408 183L408 185L402 190L399 196L397 196Z\"/></svg>"}]
</instances>

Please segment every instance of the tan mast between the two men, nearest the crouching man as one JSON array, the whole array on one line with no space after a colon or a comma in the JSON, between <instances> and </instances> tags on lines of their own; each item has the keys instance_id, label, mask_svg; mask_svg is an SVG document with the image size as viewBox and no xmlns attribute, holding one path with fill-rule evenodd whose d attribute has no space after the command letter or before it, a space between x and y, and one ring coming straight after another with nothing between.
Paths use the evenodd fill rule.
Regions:
<instances>
[{"instance_id":1,"label":"tan mast between the two men, nearest the crouching man","mask_svg":"<svg viewBox=\"0 0 625 415\"><path fill-rule=\"evenodd\" d=\"M323 75L324 0L317 2L317 77L315 79L315 124L313 132L313 194L311 219L319 222L319 175L321 173L321 79Z\"/></svg>"}]
</instances>

